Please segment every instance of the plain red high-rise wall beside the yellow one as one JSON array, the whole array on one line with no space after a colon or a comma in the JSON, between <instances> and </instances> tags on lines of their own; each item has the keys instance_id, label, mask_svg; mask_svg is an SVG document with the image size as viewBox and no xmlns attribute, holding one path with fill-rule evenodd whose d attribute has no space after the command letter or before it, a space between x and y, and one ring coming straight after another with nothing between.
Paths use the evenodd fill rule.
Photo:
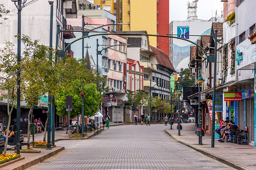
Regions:
<instances>
[{"instance_id":1,"label":"plain red high-rise wall beside the yellow one","mask_svg":"<svg viewBox=\"0 0 256 170\"><path fill-rule=\"evenodd\" d=\"M157 3L157 33L166 35L169 33L169 0L160 0ZM169 38L157 37L157 48L169 54Z\"/></svg>"}]
</instances>

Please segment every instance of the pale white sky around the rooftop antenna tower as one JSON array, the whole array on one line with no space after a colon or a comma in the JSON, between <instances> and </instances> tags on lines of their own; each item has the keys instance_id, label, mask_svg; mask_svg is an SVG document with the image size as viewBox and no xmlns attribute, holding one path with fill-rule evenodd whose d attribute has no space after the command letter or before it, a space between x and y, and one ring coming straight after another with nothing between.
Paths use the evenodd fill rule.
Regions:
<instances>
[{"instance_id":1,"label":"pale white sky around the rooftop antenna tower","mask_svg":"<svg viewBox=\"0 0 256 170\"><path fill-rule=\"evenodd\" d=\"M187 2L194 0L169 0L169 21L185 21L187 19ZM221 0L199 0L197 2L198 19L209 20L217 15L221 16L223 2Z\"/></svg>"}]
</instances>

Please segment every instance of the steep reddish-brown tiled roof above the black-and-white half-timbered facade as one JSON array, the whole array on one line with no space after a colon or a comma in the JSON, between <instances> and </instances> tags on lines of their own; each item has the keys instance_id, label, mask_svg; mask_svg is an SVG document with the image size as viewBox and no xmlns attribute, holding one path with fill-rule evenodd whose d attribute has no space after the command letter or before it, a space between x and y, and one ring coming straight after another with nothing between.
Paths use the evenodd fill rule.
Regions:
<instances>
[{"instance_id":1,"label":"steep reddish-brown tiled roof above the black-and-white half-timbered facade","mask_svg":"<svg viewBox=\"0 0 256 170\"><path fill-rule=\"evenodd\" d=\"M157 59L157 62L159 65L167 67L170 70L172 70L173 72L176 72L168 55L165 52L163 52L162 50L160 50L156 47L153 47L152 45L150 45L150 48L153 53L156 53L155 58Z\"/></svg>"}]
</instances>

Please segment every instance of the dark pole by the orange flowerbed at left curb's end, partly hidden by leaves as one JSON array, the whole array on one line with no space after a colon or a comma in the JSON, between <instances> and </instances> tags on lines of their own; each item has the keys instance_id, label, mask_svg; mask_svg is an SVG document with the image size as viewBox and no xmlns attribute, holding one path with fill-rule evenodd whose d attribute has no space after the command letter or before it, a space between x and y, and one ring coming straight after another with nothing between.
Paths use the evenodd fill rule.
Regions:
<instances>
[{"instance_id":1,"label":"dark pole by the orange flowerbed at left curb's end, partly hidden by leaves","mask_svg":"<svg viewBox=\"0 0 256 170\"><path fill-rule=\"evenodd\" d=\"M51 14L50 14L50 48L53 47L53 5L51 5ZM52 53L50 54L49 60L52 59ZM52 113L52 97L51 94L48 94L48 122L47 122L47 147L46 149L52 149L51 148L51 113Z\"/></svg>"}]
</instances>

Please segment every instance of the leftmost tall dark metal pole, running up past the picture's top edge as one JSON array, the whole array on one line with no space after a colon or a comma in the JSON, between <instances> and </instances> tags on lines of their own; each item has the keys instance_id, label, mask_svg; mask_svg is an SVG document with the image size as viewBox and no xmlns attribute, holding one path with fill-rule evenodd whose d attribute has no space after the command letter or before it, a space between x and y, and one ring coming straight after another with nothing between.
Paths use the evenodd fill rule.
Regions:
<instances>
[{"instance_id":1,"label":"leftmost tall dark metal pole, running up past the picture's top edge","mask_svg":"<svg viewBox=\"0 0 256 170\"><path fill-rule=\"evenodd\" d=\"M20 64L21 44L21 0L18 0L18 42L17 63ZM20 154L20 67L17 70L17 154Z\"/></svg>"}]
</instances>

